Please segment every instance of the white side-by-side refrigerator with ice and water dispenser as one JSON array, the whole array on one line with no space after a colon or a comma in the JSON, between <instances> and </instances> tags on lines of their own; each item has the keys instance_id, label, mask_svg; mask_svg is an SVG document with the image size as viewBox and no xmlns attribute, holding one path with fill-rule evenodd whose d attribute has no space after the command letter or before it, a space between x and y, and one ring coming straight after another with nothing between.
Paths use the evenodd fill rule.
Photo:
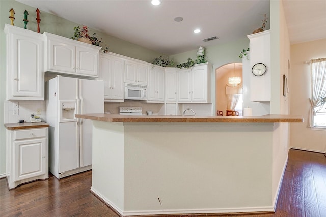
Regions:
<instances>
[{"instance_id":1,"label":"white side-by-side refrigerator with ice and water dispenser","mask_svg":"<svg viewBox=\"0 0 326 217\"><path fill-rule=\"evenodd\" d=\"M92 121L75 114L104 113L104 82L58 75L46 83L49 171L58 179L92 168Z\"/></svg>"}]
</instances>

